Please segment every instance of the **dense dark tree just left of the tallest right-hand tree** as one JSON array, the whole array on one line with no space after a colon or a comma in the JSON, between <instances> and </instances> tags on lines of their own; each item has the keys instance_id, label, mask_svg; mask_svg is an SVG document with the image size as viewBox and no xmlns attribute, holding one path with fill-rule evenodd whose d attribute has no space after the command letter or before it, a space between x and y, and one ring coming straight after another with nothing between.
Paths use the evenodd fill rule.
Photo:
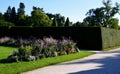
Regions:
<instances>
[{"instance_id":1,"label":"dense dark tree just left of the tallest right-hand tree","mask_svg":"<svg viewBox=\"0 0 120 74\"><path fill-rule=\"evenodd\" d=\"M90 9L88 15L83 21L89 26L103 26L104 11L103 8Z\"/></svg>"}]
</instances>

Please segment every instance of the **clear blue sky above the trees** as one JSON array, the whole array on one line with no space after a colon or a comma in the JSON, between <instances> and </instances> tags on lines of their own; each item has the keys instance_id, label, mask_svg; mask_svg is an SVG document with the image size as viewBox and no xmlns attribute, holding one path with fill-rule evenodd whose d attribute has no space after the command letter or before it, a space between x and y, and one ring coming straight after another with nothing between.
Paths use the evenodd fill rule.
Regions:
<instances>
[{"instance_id":1,"label":"clear blue sky above the trees","mask_svg":"<svg viewBox=\"0 0 120 74\"><path fill-rule=\"evenodd\" d=\"M1 0L0 12L4 13L8 6L15 6L16 10L19 3L25 4L26 14L30 15L33 6L43 8L46 13L60 13L65 17L69 17L70 21L77 22L86 17L86 12L91 8L102 6L103 0ZM112 0L112 2L120 3L120 0ZM120 19L119 15L116 15Z\"/></svg>"}]
</instances>

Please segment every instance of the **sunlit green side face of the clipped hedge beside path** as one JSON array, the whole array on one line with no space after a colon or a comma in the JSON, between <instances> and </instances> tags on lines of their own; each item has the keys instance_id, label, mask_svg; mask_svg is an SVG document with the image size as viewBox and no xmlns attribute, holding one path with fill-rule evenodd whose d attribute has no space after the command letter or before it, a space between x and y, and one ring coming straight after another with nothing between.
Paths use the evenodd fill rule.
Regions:
<instances>
[{"instance_id":1,"label":"sunlit green side face of the clipped hedge beside path","mask_svg":"<svg viewBox=\"0 0 120 74\"><path fill-rule=\"evenodd\" d=\"M120 46L120 30L101 28L102 49Z\"/></svg>"}]
</instances>

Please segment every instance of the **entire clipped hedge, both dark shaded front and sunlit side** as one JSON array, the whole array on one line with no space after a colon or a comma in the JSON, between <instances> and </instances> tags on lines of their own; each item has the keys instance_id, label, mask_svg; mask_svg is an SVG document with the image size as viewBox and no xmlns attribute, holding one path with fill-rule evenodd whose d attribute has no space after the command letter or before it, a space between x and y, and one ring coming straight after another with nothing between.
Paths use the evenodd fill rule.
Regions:
<instances>
[{"instance_id":1,"label":"entire clipped hedge, both dark shaded front and sunlit side","mask_svg":"<svg viewBox=\"0 0 120 74\"><path fill-rule=\"evenodd\" d=\"M79 48L90 50L120 46L120 30L100 27L0 27L0 37L3 36L24 38L52 36L56 39L71 37Z\"/></svg>"}]
</instances>

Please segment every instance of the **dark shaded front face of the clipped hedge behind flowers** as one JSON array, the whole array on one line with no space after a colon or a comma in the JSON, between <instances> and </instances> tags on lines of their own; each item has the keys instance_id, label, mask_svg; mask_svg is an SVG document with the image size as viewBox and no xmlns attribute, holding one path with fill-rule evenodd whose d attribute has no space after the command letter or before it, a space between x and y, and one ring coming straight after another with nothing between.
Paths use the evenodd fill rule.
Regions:
<instances>
[{"instance_id":1,"label":"dark shaded front face of the clipped hedge behind flowers","mask_svg":"<svg viewBox=\"0 0 120 74\"><path fill-rule=\"evenodd\" d=\"M0 37L3 36L24 38L52 36L56 39L71 37L81 49L102 49L101 29L99 27L0 27Z\"/></svg>"}]
</instances>

